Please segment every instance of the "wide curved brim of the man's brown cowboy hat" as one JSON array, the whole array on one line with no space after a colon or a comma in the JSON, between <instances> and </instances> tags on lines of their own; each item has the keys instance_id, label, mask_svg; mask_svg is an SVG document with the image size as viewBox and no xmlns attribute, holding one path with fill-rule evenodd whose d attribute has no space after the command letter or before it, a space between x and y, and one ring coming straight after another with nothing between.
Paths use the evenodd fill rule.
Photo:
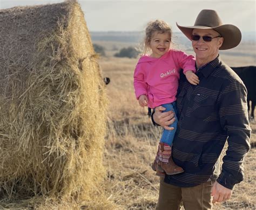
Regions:
<instances>
[{"instance_id":1,"label":"wide curved brim of the man's brown cowboy hat","mask_svg":"<svg viewBox=\"0 0 256 210\"><path fill-rule=\"evenodd\" d=\"M193 29L213 29L217 31L221 35L221 37L224 38L224 42L219 48L220 50L228 50L234 48L241 42L242 38L241 31L237 28L237 26L231 24L224 24L214 28L204 25L180 26L178 25L178 23L176 23L176 25L181 30L181 32L183 32L184 35L190 40Z\"/></svg>"}]
</instances>

